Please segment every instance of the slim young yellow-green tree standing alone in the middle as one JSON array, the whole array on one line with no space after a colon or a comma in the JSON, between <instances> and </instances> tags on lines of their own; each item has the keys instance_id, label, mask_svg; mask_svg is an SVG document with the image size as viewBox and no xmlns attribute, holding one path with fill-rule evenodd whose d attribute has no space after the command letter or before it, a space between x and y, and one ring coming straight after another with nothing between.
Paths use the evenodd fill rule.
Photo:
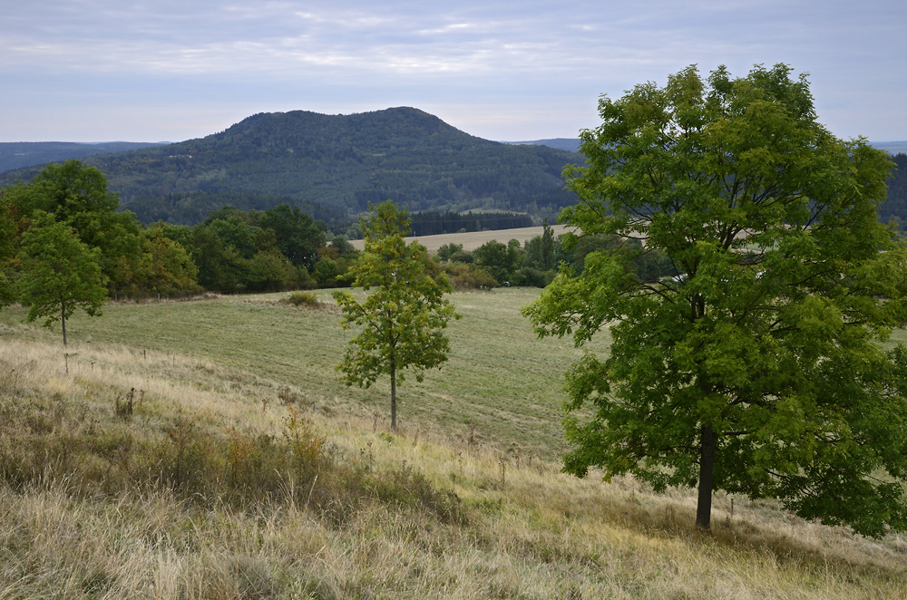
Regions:
<instances>
[{"instance_id":1,"label":"slim young yellow-green tree standing alone in the middle","mask_svg":"<svg viewBox=\"0 0 907 600\"><path fill-rule=\"evenodd\" d=\"M425 248L415 242L406 245L406 211L398 210L390 200L373 210L372 218L363 223L365 250L351 267L350 276L355 277L354 287L374 291L361 303L348 292L334 294L343 311L340 323L344 329L361 327L337 371L343 373L347 385L365 387L381 375L389 375L391 429L396 430L397 382L404 382L407 368L414 369L419 382L424 370L441 368L450 352L444 329L460 315L444 299L451 285Z\"/></svg>"}]
</instances>

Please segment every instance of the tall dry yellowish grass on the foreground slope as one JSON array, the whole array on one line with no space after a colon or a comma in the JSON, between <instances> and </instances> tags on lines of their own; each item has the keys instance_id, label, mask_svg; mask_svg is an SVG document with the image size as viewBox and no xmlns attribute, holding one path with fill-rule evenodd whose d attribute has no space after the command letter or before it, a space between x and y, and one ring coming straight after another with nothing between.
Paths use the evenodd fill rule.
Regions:
<instances>
[{"instance_id":1,"label":"tall dry yellowish grass on the foreground slope","mask_svg":"<svg viewBox=\"0 0 907 600\"><path fill-rule=\"evenodd\" d=\"M6 330L0 345L2 456L33 461L0 486L3 598L903 597L904 537L853 537L743 498L730 518L721 496L705 537L689 526L687 491L571 478L532 453L441 429L390 434L353 402L328 407L307 390L184 354L76 344L66 373L63 349L20 339L28 334ZM124 419L114 402L132 388L144 394ZM254 502L118 479L128 469L98 448L73 445L66 464L50 446L16 446L128 433L141 461L142 448L170 443L164 431L180 416L221 438L229 428L282 436L285 402L324 437L331 466ZM353 469L376 488L317 505L328 469ZM424 483L393 487L401 477ZM450 492L453 519L425 502Z\"/></svg>"}]
</instances>

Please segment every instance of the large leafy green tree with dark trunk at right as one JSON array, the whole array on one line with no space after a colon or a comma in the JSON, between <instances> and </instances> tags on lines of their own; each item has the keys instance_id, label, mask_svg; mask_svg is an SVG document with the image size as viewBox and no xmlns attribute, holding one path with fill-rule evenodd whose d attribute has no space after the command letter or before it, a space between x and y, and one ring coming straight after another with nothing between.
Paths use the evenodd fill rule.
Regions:
<instances>
[{"instance_id":1,"label":"large leafy green tree with dark trunk at right","mask_svg":"<svg viewBox=\"0 0 907 600\"><path fill-rule=\"evenodd\" d=\"M824 129L784 64L689 67L599 111L561 221L642 244L586 256L524 309L540 335L612 338L567 373L565 469L697 487L704 529L716 489L907 527L907 353L880 344L907 321L907 254L876 218L891 161ZM678 276L634 275L655 251Z\"/></svg>"}]
</instances>

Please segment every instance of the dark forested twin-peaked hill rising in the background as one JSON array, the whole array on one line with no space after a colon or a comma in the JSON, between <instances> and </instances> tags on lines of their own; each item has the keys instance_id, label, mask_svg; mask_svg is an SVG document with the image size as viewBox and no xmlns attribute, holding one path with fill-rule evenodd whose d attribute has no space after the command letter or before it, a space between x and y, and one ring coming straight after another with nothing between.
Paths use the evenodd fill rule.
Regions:
<instances>
[{"instance_id":1,"label":"dark forested twin-peaked hill rising in the background","mask_svg":"<svg viewBox=\"0 0 907 600\"><path fill-rule=\"evenodd\" d=\"M476 138L412 108L261 113L199 140L85 160L142 221L184 224L225 204L315 204L354 215L385 199L411 211L493 208L553 218L576 201L561 169L581 161L565 150Z\"/></svg>"}]
</instances>

